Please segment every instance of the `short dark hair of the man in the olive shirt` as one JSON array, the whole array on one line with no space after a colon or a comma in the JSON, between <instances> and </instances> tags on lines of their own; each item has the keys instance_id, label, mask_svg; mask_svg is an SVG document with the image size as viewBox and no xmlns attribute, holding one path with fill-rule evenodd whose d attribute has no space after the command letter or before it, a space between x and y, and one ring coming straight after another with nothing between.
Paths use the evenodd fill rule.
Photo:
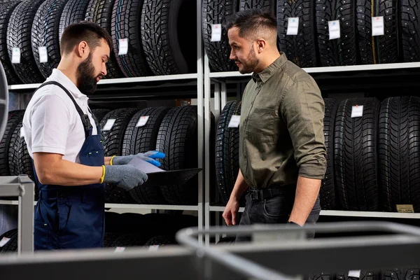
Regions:
<instances>
[{"instance_id":1,"label":"short dark hair of the man in the olive shirt","mask_svg":"<svg viewBox=\"0 0 420 280\"><path fill-rule=\"evenodd\" d=\"M239 36L252 36L262 29L277 32L276 18L268 10L249 9L235 13L224 25L226 30L232 27L239 28Z\"/></svg>"}]
</instances>

